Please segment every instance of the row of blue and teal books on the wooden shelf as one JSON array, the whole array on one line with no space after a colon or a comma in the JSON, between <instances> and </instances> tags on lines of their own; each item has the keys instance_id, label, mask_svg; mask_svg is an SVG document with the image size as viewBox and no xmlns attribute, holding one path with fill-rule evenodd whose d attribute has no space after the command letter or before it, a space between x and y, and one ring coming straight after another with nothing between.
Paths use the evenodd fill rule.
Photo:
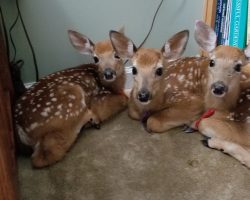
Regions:
<instances>
[{"instance_id":1,"label":"row of blue and teal books on the wooden shelf","mask_svg":"<svg viewBox=\"0 0 250 200\"><path fill-rule=\"evenodd\" d=\"M250 0L217 0L214 25L217 45L246 47L250 40L249 4Z\"/></svg>"}]
</instances>

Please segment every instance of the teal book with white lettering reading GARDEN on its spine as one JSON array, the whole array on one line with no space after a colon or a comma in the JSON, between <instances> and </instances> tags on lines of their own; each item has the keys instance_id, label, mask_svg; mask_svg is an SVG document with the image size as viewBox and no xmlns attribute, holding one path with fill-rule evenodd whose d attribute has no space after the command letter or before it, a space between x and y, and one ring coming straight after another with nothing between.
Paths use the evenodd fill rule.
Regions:
<instances>
[{"instance_id":1,"label":"teal book with white lettering reading GARDEN on its spine","mask_svg":"<svg viewBox=\"0 0 250 200\"><path fill-rule=\"evenodd\" d=\"M248 0L232 0L232 14L229 32L229 45L245 48L247 36Z\"/></svg>"}]
</instances>

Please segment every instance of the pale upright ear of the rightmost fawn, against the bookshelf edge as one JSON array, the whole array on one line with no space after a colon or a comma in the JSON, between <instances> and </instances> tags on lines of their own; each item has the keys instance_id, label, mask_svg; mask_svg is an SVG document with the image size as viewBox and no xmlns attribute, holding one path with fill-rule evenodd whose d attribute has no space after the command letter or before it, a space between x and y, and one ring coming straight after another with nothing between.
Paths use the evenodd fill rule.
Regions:
<instances>
[{"instance_id":1,"label":"pale upright ear of the rightmost fawn, against the bookshelf edge","mask_svg":"<svg viewBox=\"0 0 250 200\"><path fill-rule=\"evenodd\" d=\"M194 38L198 45L207 52L211 52L216 47L216 33L203 21L195 22Z\"/></svg>"}]
</instances>

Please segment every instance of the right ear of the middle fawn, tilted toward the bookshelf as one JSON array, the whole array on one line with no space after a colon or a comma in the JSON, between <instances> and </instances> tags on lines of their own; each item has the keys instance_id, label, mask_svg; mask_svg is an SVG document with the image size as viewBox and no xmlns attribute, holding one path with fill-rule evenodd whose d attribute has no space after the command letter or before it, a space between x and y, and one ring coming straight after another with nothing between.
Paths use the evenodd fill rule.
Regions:
<instances>
[{"instance_id":1,"label":"right ear of the middle fawn, tilted toward the bookshelf","mask_svg":"<svg viewBox=\"0 0 250 200\"><path fill-rule=\"evenodd\" d=\"M188 30L173 35L162 47L163 56L168 60L178 59L186 49L188 38Z\"/></svg>"}]
</instances>

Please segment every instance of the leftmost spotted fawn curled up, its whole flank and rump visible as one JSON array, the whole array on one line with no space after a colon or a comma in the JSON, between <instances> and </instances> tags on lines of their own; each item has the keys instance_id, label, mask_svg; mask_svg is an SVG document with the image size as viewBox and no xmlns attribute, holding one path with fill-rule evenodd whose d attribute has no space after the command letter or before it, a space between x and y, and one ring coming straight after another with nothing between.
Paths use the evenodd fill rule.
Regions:
<instances>
[{"instance_id":1,"label":"leftmost spotted fawn curled up, its whole flank and rump visible","mask_svg":"<svg viewBox=\"0 0 250 200\"><path fill-rule=\"evenodd\" d=\"M61 160L85 124L97 124L124 110L123 61L110 40L94 44L69 30L70 41L95 64L52 73L34 84L15 104L16 130L32 146L32 164L45 167Z\"/></svg>"}]
</instances>

